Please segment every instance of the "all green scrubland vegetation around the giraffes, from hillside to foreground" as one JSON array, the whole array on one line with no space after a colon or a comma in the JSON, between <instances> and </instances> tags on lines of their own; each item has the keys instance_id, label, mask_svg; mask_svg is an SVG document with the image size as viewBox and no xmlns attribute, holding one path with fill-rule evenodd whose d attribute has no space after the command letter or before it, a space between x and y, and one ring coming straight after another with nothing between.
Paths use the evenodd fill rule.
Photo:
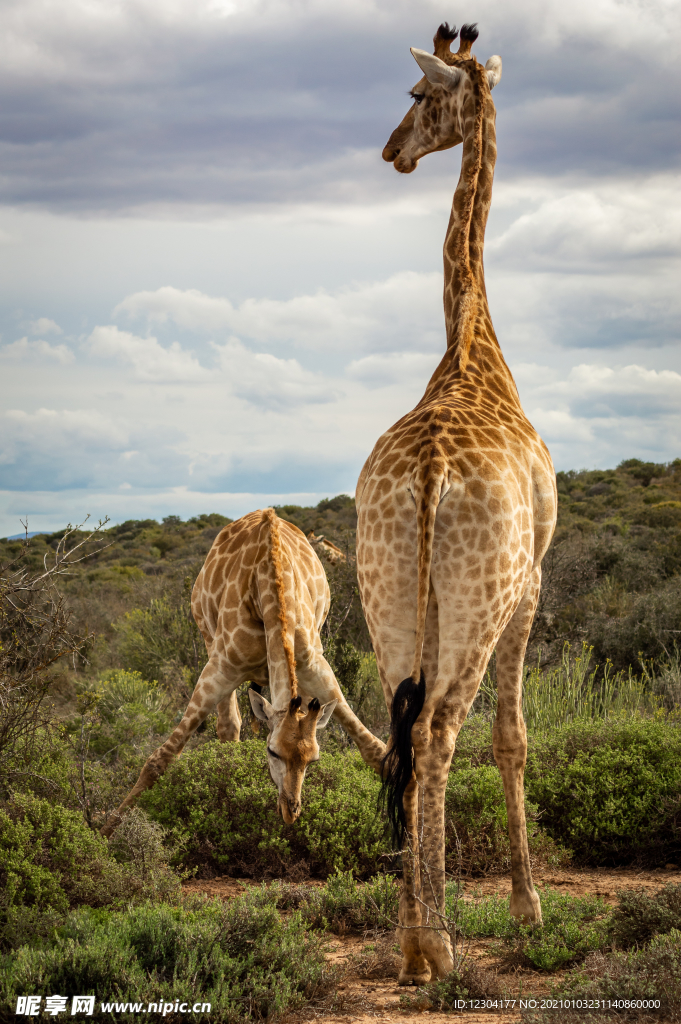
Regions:
<instances>
[{"instance_id":1,"label":"all green scrubland vegetation around the giraffes, from hillside to foreground","mask_svg":"<svg viewBox=\"0 0 681 1024\"><path fill-rule=\"evenodd\" d=\"M525 669L530 853L555 867L681 864L681 460L559 473L558 493ZM352 561L354 504L339 496L279 513L347 555L326 564L323 640L357 714L385 735ZM15 1019L17 995L58 991L144 1004L196 994L214 1020L270 1017L333 988L326 930L394 927L377 777L332 725L303 813L286 825L246 694L240 744L219 743L209 720L113 840L98 835L205 664L189 594L227 521L76 531L66 548L82 542L75 557L88 557L71 569L65 531L28 547L0 541L0 1020ZM614 909L545 889L539 929L512 922L508 900L469 899L476 879L510 865L495 701L493 659L446 792L458 948L494 938L511 966L569 969L561 991L657 993L668 1019L681 1015L679 887L623 894ZM185 879L225 874L262 885L227 904L182 893ZM463 956L411 999L446 1009L499 984Z\"/></svg>"}]
</instances>

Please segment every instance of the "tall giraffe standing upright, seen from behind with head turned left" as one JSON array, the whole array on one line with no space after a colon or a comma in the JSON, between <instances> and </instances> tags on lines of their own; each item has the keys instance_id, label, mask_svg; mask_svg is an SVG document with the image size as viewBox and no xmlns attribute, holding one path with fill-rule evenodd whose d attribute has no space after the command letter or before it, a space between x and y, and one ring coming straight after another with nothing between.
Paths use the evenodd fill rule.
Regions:
<instances>
[{"instance_id":1,"label":"tall giraffe standing upright, seen from behind with head turned left","mask_svg":"<svg viewBox=\"0 0 681 1024\"><path fill-rule=\"evenodd\" d=\"M475 26L446 23L383 159L409 174L463 142L444 240L446 352L418 406L378 440L357 482L361 599L391 709L384 786L406 844L400 984L454 966L444 905L444 791L457 735L497 649L494 754L511 842L511 913L541 921L523 803L521 680L556 518L549 453L520 406L492 326L482 268L497 156L501 58L471 54ZM407 678L406 678L407 677Z\"/></svg>"}]
</instances>

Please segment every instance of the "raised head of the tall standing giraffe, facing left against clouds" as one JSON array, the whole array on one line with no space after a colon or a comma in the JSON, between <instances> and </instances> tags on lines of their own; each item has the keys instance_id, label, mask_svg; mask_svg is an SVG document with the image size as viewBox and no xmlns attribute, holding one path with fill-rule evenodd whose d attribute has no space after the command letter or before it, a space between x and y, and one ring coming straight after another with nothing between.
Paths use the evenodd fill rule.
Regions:
<instances>
[{"instance_id":1,"label":"raised head of the tall standing giraffe, facing left against clouds","mask_svg":"<svg viewBox=\"0 0 681 1024\"><path fill-rule=\"evenodd\" d=\"M494 89L501 78L501 57L490 57L482 69L471 55L476 26L462 27L461 45L452 53L450 44L456 37L456 29L445 22L435 33L434 53L412 47L423 78L410 91L414 103L383 151L383 159L401 174L411 174L427 154L451 150L463 141L466 99Z\"/></svg>"}]
</instances>

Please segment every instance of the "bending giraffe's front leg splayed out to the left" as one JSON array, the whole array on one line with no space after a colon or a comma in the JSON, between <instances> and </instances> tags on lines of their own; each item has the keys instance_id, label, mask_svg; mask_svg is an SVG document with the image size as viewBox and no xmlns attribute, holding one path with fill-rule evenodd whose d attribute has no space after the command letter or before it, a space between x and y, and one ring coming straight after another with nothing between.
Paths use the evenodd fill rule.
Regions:
<instances>
[{"instance_id":1,"label":"bending giraffe's front leg splayed out to the left","mask_svg":"<svg viewBox=\"0 0 681 1024\"><path fill-rule=\"evenodd\" d=\"M222 656L211 656L199 677L199 682L191 694L191 699L187 705L182 721L173 729L165 743L159 746L146 759L136 783L118 810L114 811L105 824L99 829L102 836L109 837L112 835L114 829L120 824L124 812L137 802L137 799L145 790L151 790L154 783L166 771L171 761L178 754L181 754L186 741L214 710L218 700L227 699L225 691L229 694L229 688L232 687L236 689L240 682L240 679L230 679Z\"/></svg>"}]
</instances>

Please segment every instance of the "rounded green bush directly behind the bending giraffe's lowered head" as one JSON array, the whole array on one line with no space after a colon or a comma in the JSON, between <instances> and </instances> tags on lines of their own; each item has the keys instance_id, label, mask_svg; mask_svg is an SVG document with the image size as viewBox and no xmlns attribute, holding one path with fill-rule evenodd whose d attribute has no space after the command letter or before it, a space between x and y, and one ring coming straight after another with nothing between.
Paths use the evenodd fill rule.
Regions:
<instances>
[{"instance_id":1,"label":"rounded green bush directly behind the bending giraffe's lowered head","mask_svg":"<svg viewBox=\"0 0 681 1024\"><path fill-rule=\"evenodd\" d=\"M142 806L201 869L280 876L296 866L329 874L373 874L385 850L376 812L378 776L355 753L325 754L308 769L303 811L287 825L260 740L207 742L183 754Z\"/></svg>"}]
</instances>

